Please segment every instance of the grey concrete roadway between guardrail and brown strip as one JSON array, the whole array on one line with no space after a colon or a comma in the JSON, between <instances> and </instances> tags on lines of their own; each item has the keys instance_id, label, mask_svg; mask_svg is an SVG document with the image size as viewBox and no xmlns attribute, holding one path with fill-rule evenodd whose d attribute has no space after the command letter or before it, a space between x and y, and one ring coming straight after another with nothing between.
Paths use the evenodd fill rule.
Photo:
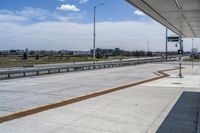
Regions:
<instances>
[{"instance_id":1,"label":"grey concrete roadway between guardrail and brown strip","mask_svg":"<svg viewBox=\"0 0 200 133\"><path fill-rule=\"evenodd\" d=\"M0 115L148 79L167 68L145 64L0 81Z\"/></svg>"}]
</instances>

